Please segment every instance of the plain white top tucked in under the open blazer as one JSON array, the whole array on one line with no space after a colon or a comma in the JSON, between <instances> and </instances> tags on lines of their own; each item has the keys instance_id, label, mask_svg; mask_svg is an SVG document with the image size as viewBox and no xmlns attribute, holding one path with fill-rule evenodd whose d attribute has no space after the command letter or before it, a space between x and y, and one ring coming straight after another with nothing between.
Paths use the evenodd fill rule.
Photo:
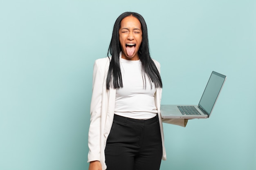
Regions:
<instances>
[{"instance_id":1,"label":"plain white top tucked in under the open blazer","mask_svg":"<svg viewBox=\"0 0 256 170\"><path fill-rule=\"evenodd\" d=\"M116 91L115 114L133 119L155 117L156 88L153 83L151 88L148 76L143 78L141 61L120 58L120 69L124 87Z\"/></svg>"}]
</instances>

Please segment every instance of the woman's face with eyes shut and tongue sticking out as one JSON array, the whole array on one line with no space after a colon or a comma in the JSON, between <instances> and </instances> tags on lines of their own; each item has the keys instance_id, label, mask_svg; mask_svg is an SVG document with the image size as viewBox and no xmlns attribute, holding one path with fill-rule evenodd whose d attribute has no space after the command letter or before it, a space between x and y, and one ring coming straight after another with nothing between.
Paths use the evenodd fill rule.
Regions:
<instances>
[{"instance_id":1,"label":"woman's face with eyes shut and tongue sticking out","mask_svg":"<svg viewBox=\"0 0 256 170\"><path fill-rule=\"evenodd\" d=\"M141 41L142 30L139 20L133 16L124 18L119 29L122 58L126 60L139 60L138 51Z\"/></svg>"}]
</instances>

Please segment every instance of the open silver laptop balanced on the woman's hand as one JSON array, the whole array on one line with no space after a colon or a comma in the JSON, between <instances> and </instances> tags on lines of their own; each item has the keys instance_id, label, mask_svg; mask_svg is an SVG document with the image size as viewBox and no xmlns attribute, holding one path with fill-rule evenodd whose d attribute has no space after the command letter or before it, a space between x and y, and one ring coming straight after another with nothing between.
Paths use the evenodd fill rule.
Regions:
<instances>
[{"instance_id":1,"label":"open silver laptop balanced on the woman's hand","mask_svg":"<svg viewBox=\"0 0 256 170\"><path fill-rule=\"evenodd\" d=\"M162 118L209 118L225 81L225 75L213 71L198 105L161 105Z\"/></svg>"}]
</instances>

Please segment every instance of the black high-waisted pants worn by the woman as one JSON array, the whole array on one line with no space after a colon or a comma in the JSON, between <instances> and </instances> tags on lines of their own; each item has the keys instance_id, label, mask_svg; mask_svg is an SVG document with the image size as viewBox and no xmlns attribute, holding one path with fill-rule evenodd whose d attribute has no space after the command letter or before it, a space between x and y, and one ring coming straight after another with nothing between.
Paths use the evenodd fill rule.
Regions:
<instances>
[{"instance_id":1,"label":"black high-waisted pants worn by the woman","mask_svg":"<svg viewBox=\"0 0 256 170\"><path fill-rule=\"evenodd\" d=\"M107 170L159 170L162 139L158 117L138 120L115 115L105 157Z\"/></svg>"}]
</instances>

